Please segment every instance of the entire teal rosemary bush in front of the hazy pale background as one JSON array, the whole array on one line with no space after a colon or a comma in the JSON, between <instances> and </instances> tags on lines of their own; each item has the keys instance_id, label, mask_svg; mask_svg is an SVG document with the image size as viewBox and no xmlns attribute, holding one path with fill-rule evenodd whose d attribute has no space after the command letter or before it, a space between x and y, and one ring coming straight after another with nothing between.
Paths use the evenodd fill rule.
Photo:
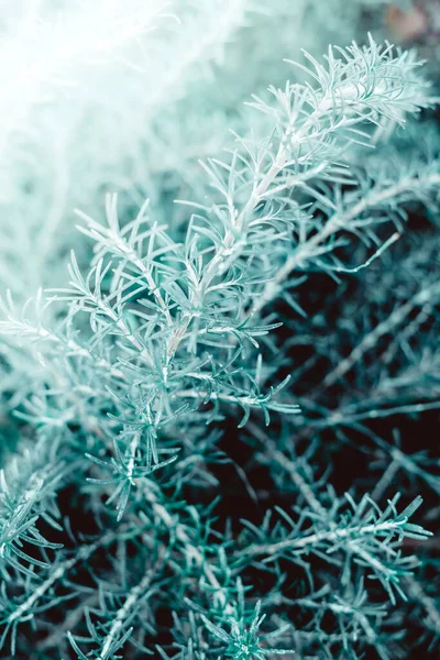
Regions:
<instances>
[{"instance_id":1,"label":"entire teal rosemary bush in front of the hazy pale background","mask_svg":"<svg viewBox=\"0 0 440 660\"><path fill-rule=\"evenodd\" d=\"M88 267L6 292L2 657L436 648L439 464L396 421L440 407L421 64L371 35L288 61L193 199L109 193Z\"/></svg>"}]
</instances>

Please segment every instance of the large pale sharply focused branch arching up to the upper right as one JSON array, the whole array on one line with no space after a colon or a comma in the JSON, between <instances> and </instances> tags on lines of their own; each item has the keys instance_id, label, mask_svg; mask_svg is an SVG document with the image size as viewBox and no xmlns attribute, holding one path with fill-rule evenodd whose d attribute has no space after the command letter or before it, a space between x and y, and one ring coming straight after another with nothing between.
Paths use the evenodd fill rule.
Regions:
<instances>
[{"instance_id":1,"label":"large pale sharply focused branch arching up to the upper right","mask_svg":"<svg viewBox=\"0 0 440 660\"><path fill-rule=\"evenodd\" d=\"M107 198L106 224L80 213L95 260L84 275L73 254L69 288L51 292L52 302L68 306L64 323L54 331L38 318L34 326L21 323L26 336L53 338L46 348L67 348L62 391L74 378L76 393L67 418L76 420L86 405L101 450L116 450L118 481L125 475L118 486L121 513L133 475L141 479L160 464L157 438L175 437L178 419L206 406L215 418L231 404L243 409L242 425L258 408L266 424L271 410L298 411L278 400L283 384L265 386L268 371L252 365L255 350L271 350L276 328L258 316L295 268L314 260L330 268L320 255L334 250L339 230L370 206L369 197L359 211L333 204L327 222L315 220L318 206L331 200L322 182L351 180L343 151L359 131L383 119L402 121L403 112L430 103L411 54L395 55L372 38L369 46L337 52L329 51L326 66L309 57L312 86L287 84L285 91L272 90L271 105L255 101L270 116L271 136L263 144L239 139L229 163L205 166L211 201L195 205L183 241L154 220L147 202L123 226L116 196ZM7 314L3 332L20 330L12 302ZM48 355L42 351L44 361ZM103 369L95 374L98 365ZM59 391L59 381L51 389ZM164 449L170 449L166 440Z\"/></svg>"}]
</instances>

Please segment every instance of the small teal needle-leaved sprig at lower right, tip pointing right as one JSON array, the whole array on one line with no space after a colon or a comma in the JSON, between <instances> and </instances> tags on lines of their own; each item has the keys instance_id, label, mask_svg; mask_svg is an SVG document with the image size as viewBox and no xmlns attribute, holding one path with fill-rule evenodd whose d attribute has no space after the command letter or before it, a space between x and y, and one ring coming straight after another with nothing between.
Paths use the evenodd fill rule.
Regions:
<instances>
[{"instance_id":1,"label":"small teal needle-leaved sprig at lower right, tip pointing right","mask_svg":"<svg viewBox=\"0 0 440 660\"><path fill-rule=\"evenodd\" d=\"M274 526L273 539L270 543L261 543L258 537L264 538L265 531L256 534L257 530L254 530L256 536L250 552L265 557L266 562L282 558L289 558L293 562L307 562L302 554L307 557L316 552L322 558L328 556L329 561L343 569L341 579L345 585L352 580L353 561L370 578L378 580L388 592L392 603L395 603L395 593L405 597L399 586L400 576L411 574L413 569L418 565L415 557L402 557L402 540L405 537L424 540L430 536L419 525L408 521L421 505L421 497L400 514L396 509L398 495L388 502L384 510L369 496L364 496L359 504L350 494L345 494L345 497L350 508L344 507L343 501L338 505L334 502L319 517L315 510L302 509L299 517L294 519L278 509L282 519ZM249 522L244 524L253 530Z\"/></svg>"}]
</instances>

